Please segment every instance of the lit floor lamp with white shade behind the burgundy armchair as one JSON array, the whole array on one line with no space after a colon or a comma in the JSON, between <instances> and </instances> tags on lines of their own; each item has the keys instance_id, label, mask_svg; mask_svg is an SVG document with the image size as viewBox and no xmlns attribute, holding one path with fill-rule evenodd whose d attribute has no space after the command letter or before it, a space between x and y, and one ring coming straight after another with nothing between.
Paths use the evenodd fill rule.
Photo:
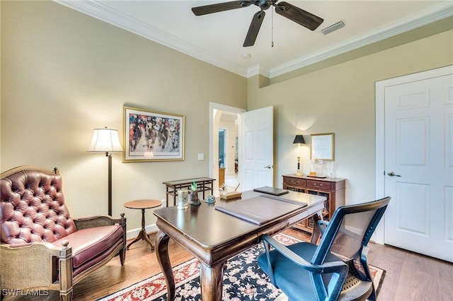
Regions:
<instances>
[{"instance_id":1,"label":"lit floor lamp with white shade behind the burgundy armchair","mask_svg":"<svg viewBox=\"0 0 453 301\"><path fill-rule=\"evenodd\" d=\"M108 215L112 216L112 154L121 152L122 147L116 129L94 129L88 152L105 153L108 157Z\"/></svg>"}]
</instances>

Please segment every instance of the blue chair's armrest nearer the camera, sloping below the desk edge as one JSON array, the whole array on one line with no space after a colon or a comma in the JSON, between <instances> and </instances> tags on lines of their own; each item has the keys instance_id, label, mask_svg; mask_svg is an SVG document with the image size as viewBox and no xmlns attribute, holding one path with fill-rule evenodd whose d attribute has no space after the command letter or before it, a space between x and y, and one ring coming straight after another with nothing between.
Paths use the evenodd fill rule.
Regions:
<instances>
[{"instance_id":1,"label":"blue chair's armrest nearer the camera, sloping below the desk edge","mask_svg":"<svg viewBox=\"0 0 453 301\"><path fill-rule=\"evenodd\" d=\"M285 244L281 244L280 242L275 240L274 237L265 234L263 235L262 239L264 242L273 246L273 248L277 252L285 256L287 259L293 261L294 264L297 264L298 266L305 268L307 271L311 271L314 273L336 273L338 272L338 268L346 268L346 273L348 273L348 265L345 264L343 261L331 261L321 265L311 264L305 259L303 259L301 256L297 255L296 253L288 249L285 246ZM268 247L265 247L265 249L266 254L268 254Z\"/></svg>"}]
</instances>

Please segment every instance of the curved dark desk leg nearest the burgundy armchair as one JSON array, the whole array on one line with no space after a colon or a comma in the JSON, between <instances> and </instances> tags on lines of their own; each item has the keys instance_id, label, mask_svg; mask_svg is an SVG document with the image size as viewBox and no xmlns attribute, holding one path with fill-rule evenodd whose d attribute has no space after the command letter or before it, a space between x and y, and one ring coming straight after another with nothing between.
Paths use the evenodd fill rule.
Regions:
<instances>
[{"instance_id":1,"label":"curved dark desk leg nearest the burgundy armchair","mask_svg":"<svg viewBox=\"0 0 453 301\"><path fill-rule=\"evenodd\" d=\"M157 231L156 235L156 256L164 274L165 282L167 283L167 300L175 299L175 278L173 278L173 270L171 268L170 257L168 257L168 240L170 237L161 230Z\"/></svg>"}]
</instances>

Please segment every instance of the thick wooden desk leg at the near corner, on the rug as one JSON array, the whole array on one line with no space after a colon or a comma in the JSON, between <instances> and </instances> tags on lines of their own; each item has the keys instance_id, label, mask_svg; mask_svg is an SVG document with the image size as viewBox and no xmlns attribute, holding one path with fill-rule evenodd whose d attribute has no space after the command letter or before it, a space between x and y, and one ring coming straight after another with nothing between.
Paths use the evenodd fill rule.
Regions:
<instances>
[{"instance_id":1,"label":"thick wooden desk leg at the near corner, on the rug","mask_svg":"<svg viewBox=\"0 0 453 301\"><path fill-rule=\"evenodd\" d=\"M206 266L200 262L202 301L222 301L224 262Z\"/></svg>"}]
</instances>

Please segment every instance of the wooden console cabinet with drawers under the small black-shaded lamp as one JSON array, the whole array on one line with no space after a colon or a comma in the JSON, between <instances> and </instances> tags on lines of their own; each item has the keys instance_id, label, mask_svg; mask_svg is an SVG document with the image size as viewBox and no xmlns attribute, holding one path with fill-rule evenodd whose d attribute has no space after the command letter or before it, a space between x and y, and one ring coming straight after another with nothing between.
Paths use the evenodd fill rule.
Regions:
<instances>
[{"instance_id":1,"label":"wooden console cabinet with drawers under the small black-shaded lamp","mask_svg":"<svg viewBox=\"0 0 453 301\"><path fill-rule=\"evenodd\" d=\"M323 210L323 218L325 220L330 220L335 209L345 204L346 179L336 177L319 178L294 174L282 175L282 177L283 189L326 196L327 200ZM294 225L294 228L311 233L313 232L313 220L303 220L301 223Z\"/></svg>"}]
</instances>

